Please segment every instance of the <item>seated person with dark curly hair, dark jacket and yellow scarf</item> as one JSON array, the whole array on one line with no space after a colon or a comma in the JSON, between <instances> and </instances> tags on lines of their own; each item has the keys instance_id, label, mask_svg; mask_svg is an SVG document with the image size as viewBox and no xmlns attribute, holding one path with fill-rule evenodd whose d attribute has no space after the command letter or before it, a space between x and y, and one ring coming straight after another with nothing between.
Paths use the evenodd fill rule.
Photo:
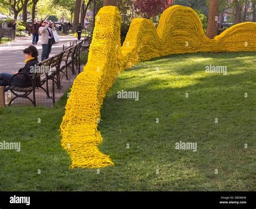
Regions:
<instances>
[{"instance_id":1,"label":"seated person with dark curly hair, dark jacket and yellow scarf","mask_svg":"<svg viewBox=\"0 0 256 209\"><path fill-rule=\"evenodd\" d=\"M10 73L0 73L0 86L8 86L10 79L12 76L14 76L17 73L25 73L25 74L33 74L33 72L36 71L36 66L38 64L38 51L35 46L29 46L28 48L25 48L23 50L23 53L25 54L26 60L25 60L25 66L19 71L12 71L12 74ZM31 79L29 79L29 76L25 76L23 74L18 74L14 76L11 80L11 85L13 86L19 86L19 87L29 87L32 85Z\"/></svg>"}]
</instances>

